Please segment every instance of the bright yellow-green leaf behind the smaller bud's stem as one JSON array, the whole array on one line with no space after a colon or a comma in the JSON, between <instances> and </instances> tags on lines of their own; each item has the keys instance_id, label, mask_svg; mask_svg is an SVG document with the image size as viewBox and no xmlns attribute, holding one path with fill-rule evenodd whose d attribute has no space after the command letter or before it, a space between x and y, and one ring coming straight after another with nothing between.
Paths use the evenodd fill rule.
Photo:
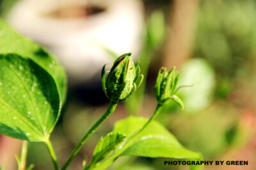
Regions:
<instances>
[{"instance_id":1,"label":"bright yellow-green leaf behind the smaller bud's stem","mask_svg":"<svg viewBox=\"0 0 256 170\"><path fill-rule=\"evenodd\" d=\"M129 139L132 133L138 131L148 121L142 117L128 117L116 122L113 132L121 132ZM201 159L200 153L184 148L179 141L163 125L154 121L138 134L132 142L127 142L121 155L140 157L168 157L177 159Z\"/></svg>"}]
</instances>

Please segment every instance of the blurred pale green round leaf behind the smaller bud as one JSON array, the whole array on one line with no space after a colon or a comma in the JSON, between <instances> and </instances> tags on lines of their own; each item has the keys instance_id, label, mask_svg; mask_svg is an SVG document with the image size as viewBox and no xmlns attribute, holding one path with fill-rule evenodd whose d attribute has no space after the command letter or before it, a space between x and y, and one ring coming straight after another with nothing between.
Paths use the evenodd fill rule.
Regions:
<instances>
[{"instance_id":1,"label":"blurred pale green round leaf behind the smaller bud","mask_svg":"<svg viewBox=\"0 0 256 170\"><path fill-rule=\"evenodd\" d=\"M185 111L196 113L212 102L215 74L204 59L191 59L180 69L179 85L193 85L178 92L185 105ZM178 85L178 86L179 86Z\"/></svg>"}]
</instances>

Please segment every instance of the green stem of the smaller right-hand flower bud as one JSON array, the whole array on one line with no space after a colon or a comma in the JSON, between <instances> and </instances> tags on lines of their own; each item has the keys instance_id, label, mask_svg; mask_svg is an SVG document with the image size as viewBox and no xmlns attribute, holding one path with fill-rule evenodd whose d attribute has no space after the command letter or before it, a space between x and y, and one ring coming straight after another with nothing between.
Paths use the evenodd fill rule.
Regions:
<instances>
[{"instance_id":1,"label":"green stem of the smaller right-hand flower bud","mask_svg":"<svg viewBox=\"0 0 256 170\"><path fill-rule=\"evenodd\" d=\"M159 113L161 112L161 110L163 109L163 105L162 104L157 104L156 110L154 112L154 114L152 115L152 117L148 120L148 122L143 125L143 127L135 132L134 134L132 134L132 136L129 137L129 139L127 139L127 142L122 146L122 148L120 150L118 150L117 152L115 152L113 155L111 155L106 161L102 162L101 164L97 165L96 169L106 169L108 166L110 166L111 164L113 164L113 162L127 149L129 148L129 146L131 145L131 143L133 142L133 140L135 139L136 136L138 136L138 134L140 134L141 131L143 131L148 124L150 124L150 122L152 122L153 120L156 119L156 117L159 115ZM95 167L95 165L90 164L88 167L86 167L86 169L93 169Z\"/></svg>"}]
</instances>

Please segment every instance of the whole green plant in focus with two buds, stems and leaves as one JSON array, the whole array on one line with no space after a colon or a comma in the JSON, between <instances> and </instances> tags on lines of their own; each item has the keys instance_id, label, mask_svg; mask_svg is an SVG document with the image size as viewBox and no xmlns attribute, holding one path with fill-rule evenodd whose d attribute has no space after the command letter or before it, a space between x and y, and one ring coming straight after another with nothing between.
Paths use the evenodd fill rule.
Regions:
<instances>
[{"instance_id":1,"label":"whole green plant in focus with two buds, stems and leaves","mask_svg":"<svg viewBox=\"0 0 256 170\"><path fill-rule=\"evenodd\" d=\"M26 166L27 141L44 142L54 168L67 169L97 127L115 111L119 102L125 101L140 87L143 80L140 67L134 65L131 53L116 59L108 78L104 68L102 88L111 103L60 167L50 134L60 117L67 92L63 67L44 48L0 21L0 133L24 140L21 157L17 158L19 169ZM84 161L83 169L106 169L123 155L202 159L200 153L184 148L163 125L155 121L165 101L173 99L183 107L182 101L175 96L178 80L174 68L170 73L161 69L156 83L158 104L152 117L128 117L116 122L113 132L101 138L95 147L92 162L86 166ZM28 169L32 168L29 166Z\"/></svg>"}]
</instances>

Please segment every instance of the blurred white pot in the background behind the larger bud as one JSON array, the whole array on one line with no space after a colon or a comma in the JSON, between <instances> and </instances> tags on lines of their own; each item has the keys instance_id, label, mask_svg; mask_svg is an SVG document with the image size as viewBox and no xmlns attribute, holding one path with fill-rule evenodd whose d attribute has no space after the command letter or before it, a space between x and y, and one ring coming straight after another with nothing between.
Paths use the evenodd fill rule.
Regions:
<instances>
[{"instance_id":1,"label":"blurred white pot in the background behind the larger bud","mask_svg":"<svg viewBox=\"0 0 256 170\"><path fill-rule=\"evenodd\" d=\"M118 55L141 47L143 6L136 0L93 0L105 11L83 18L57 18L46 14L60 8L59 1L24 0L15 4L8 22L22 34L44 45L65 66L72 83L86 81L113 59L106 46Z\"/></svg>"}]
</instances>

